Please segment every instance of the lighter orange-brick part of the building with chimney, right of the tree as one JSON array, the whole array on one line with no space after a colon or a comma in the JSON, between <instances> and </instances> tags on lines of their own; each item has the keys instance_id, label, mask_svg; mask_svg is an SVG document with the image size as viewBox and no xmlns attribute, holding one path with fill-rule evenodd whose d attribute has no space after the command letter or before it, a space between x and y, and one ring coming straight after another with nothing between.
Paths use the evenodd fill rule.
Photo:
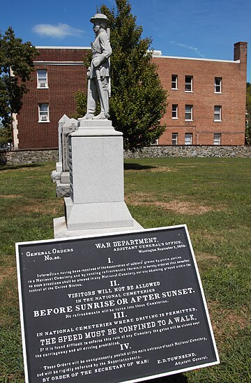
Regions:
<instances>
[{"instance_id":1,"label":"lighter orange-brick part of the building with chimney, right of the tree","mask_svg":"<svg viewBox=\"0 0 251 383\"><path fill-rule=\"evenodd\" d=\"M169 93L167 125L159 144L243 145L247 43L234 61L154 57Z\"/></svg>"}]
</instances>

